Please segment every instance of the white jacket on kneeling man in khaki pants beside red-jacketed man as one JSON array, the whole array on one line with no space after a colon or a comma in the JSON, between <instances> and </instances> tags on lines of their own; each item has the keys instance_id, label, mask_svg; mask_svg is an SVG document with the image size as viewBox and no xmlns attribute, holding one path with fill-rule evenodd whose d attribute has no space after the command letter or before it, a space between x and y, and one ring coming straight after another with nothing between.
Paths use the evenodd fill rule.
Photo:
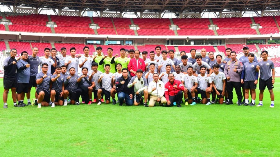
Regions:
<instances>
[{"instance_id":1,"label":"white jacket on kneeling man in khaki pants beside red-jacketed man","mask_svg":"<svg viewBox=\"0 0 280 157\"><path fill-rule=\"evenodd\" d=\"M156 88L156 90L152 91L153 88ZM148 86L148 94L151 94L151 96L155 97L162 97L164 95L164 83L160 80L155 82L154 80L149 83Z\"/></svg>"}]
</instances>

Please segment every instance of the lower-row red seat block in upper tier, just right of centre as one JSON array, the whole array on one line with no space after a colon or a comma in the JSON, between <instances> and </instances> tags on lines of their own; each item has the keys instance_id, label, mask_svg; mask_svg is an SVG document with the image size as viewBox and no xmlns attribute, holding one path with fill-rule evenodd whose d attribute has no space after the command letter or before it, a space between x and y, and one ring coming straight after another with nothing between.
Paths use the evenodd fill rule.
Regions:
<instances>
[{"instance_id":1,"label":"lower-row red seat block in upper tier, just right of centre","mask_svg":"<svg viewBox=\"0 0 280 157\"><path fill-rule=\"evenodd\" d=\"M153 36L175 36L175 33L173 30L170 29L139 29L137 30L138 35L153 35Z\"/></svg>"}]
</instances>

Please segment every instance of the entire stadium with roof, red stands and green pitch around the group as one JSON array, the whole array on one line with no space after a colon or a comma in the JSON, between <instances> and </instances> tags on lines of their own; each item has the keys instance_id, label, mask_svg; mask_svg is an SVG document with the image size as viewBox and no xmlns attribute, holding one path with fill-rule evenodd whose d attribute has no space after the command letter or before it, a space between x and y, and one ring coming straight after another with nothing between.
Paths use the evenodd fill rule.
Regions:
<instances>
[{"instance_id":1,"label":"entire stadium with roof, red stands and green pitch around the group","mask_svg":"<svg viewBox=\"0 0 280 157\"><path fill-rule=\"evenodd\" d=\"M0 76L16 48L38 56L44 48L75 47L83 55L113 56L121 48L174 50L196 55L204 48L226 58L226 48L261 52L280 76L279 0L29 0L0 1ZM167 56L169 58L169 56ZM149 55L147 56L149 58ZM80 72L80 69L78 70ZM79 73L79 75L81 75ZM3 87L1 78L1 86ZM278 94L278 78L274 94ZM259 90L257 88L257 102ZM1 89L1 94L3 88ZM31 91L34 97L35 89ZM279 156L279 110L264 107L154 107L104 104L1 109L1 154L5 156ZM11 92L8 103L12 104ZM236 95L234 101L236 101ZM2 103L2 100L0 101ZM277 104L277 99L276 99Z\"/></svg>"}]
</instances>

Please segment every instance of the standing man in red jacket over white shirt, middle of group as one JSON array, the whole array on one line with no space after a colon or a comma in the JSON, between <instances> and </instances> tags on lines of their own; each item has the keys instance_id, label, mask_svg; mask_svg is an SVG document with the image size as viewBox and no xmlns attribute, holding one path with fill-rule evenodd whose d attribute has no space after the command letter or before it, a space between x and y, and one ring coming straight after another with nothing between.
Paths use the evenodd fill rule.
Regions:
<instances>
[{"instance_id":1,"label":"standing man in red jacket over white shirt, middle of group","mask_svg":"<svg viewBox=\"0 0 280 157\"><path fill-rule=\"evenodd\" d=\"M134 58L130 59L129 63L128 63L128 71L130 72L131 77L136 75L136 71L137 69L142 69L143 72L145 71L145 61L139 57L140 56L140 51L139 50L135 50L134 51Z\"/></svg>"}]
</instances>

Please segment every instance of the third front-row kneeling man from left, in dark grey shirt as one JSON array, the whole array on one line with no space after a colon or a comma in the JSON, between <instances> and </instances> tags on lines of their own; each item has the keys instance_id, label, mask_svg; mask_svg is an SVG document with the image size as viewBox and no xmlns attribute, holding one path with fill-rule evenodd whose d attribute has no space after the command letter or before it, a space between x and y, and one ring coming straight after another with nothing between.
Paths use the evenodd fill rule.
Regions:
<instances>
[{"instance_id":1,"label":"third front-row kneeling man from left, in dark grey shirt","mask_svg":"<svg viewBox=\"0 0 280 157\"><path fill-rule=\"evenodd\" d=\"M67 106L67 97L70 95L70 104L80 105L79 98L77 98L77 89L78 89L78 75L76 73L75 68L69 69L70 75L64 77L64 92L63 92L63 98L64 98L64 104L63 106ZM78 100L78 101L77 101Z\"/></svg>"}]
</instances>

